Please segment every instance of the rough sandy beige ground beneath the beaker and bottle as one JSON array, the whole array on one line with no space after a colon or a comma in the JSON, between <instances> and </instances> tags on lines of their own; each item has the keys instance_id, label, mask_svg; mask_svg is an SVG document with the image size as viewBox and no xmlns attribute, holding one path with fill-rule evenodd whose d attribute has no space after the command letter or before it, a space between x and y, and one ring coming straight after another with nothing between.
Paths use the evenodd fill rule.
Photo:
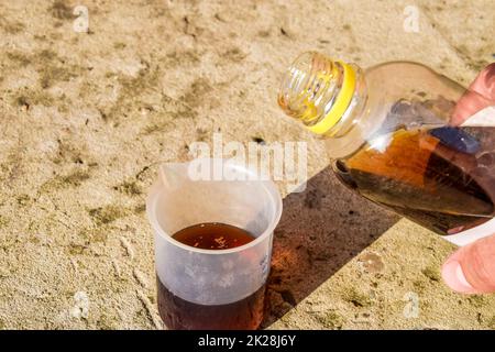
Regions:
<instances>
[{"instance_id":1,"label":"rough sandy beige ground beneath the beaker and bottle","mask_svg":"<svg viewBox=\"0 0 495 352\"><path fill-rule=\"evenodd\" d=\"M78 4L87 33L73 29ZM494 23L492 0L2 1L0 329L161 328L145 194L158 163L213 131L309 143L265 327L495 329L493 295L441 282L454 248L340 186L275 99L306 50L363 67L419 61L468 84L495 59Z\"/></svg>"}]
</instances>

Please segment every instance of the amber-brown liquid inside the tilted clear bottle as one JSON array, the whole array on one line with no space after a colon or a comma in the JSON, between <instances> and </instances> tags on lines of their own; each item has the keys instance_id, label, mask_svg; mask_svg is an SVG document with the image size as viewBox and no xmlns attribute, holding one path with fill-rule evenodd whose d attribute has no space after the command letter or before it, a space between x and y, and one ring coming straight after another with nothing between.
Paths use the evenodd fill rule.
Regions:
<instances>
[{"instance_id":1,"label":"amber-brown liquid inside the tilted clear bottle","mask_svg":"<svg viewBox=\"0 0 495 352\"><path fill-rule=\"evenodd\" d=\"M336 164L338 177L374 202L440 234L494 217L495 129L399 130ZM440 131L446 134L444 131ZM440 133L439 132L439 133ZM458 140L455 140L458 139ZM475 151L459 143L474 141Z\"/></svg>"}]
</instances>

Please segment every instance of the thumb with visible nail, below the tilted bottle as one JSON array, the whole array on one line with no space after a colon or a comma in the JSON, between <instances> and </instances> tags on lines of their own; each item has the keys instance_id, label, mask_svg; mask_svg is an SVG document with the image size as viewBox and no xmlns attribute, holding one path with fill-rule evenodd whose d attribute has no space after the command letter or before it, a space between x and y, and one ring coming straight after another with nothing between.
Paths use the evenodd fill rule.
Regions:
<instances>
[{"instance_id":1,"label":"thumb with visible nail, below the tilted bottle","mask_svg":"<svg viewBox=\"0 0 495 352\"><path fill-rule=\"evenodd\" d=\"M495 234L452 254L443 264L442 277L459 293L495 293Z\"/></svg>"}]
</instances>

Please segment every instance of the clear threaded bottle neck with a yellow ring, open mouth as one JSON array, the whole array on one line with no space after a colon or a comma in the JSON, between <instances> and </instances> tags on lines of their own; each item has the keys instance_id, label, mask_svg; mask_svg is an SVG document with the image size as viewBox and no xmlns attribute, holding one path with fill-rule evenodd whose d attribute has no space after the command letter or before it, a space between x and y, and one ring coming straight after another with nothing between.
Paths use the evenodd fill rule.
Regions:
<instances>
[{"instance_id":1,"label":"clear threaded bottle neck with a yellow ring, open mouth","mask_svg":"<svg viewBox=\"0 0 495 352\"><path fill-rule=\"evenodd\" d=\"M308 52L287 70L278 105L311 132L339 138L352 129L366 98L360 67Z\"/></svg>"}]
</instances>

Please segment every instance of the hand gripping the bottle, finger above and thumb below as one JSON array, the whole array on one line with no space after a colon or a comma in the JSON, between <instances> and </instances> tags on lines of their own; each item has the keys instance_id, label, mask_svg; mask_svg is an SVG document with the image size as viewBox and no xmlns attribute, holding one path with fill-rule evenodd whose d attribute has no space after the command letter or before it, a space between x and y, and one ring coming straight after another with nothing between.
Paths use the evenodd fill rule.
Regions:
<instances>
[{"instance_id":1,"label":"hand gripping the bottle, finger above and thumb below","mask_svg":"<svg viewBox=\"0 0 495 352\"><path fill-rule=\"evenodd\" d=\"M483 69L459 100L451 123L459 125L495 101L495 63ZM495 234L452 254L442 267L446 284L459 293L495 293Z\"/></svg>"}]
</instances>

